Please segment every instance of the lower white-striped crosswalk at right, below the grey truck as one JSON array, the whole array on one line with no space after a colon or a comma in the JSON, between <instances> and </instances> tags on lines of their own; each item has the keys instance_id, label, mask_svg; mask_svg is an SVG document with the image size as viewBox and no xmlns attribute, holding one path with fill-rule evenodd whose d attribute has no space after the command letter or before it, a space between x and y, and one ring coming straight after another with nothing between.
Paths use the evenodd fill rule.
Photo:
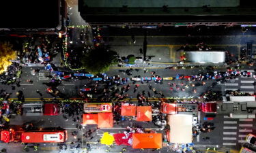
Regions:
<instances>
[{"instance_id":1,"label":"lower white-striped crosswalk at right, below the grey truck","mask_svg":"<svg viewBox=\"0 0 256 153\"><path fill-rule=\"evenodd\" d=\"M253 132L253 118L229 118L223 116L223 146L245 143L246 136Z\"/></svg>"}]
</instances>

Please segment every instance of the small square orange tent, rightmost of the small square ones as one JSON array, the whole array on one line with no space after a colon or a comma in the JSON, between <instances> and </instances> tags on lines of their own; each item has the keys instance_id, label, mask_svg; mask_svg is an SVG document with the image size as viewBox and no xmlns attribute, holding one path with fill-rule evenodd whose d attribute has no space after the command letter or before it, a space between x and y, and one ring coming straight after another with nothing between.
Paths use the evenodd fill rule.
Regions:
<instances>
[{"instance_id":1,"label":"small square orange tent, rightmost of the small square ones","mask_svg":"<svg viewBox=\"0 0 256 153\"><path fill-rule=\"evenodd\" d=\"M151 106L137 106L137 121L152 121Z\"/></svg>"}]
</instances>

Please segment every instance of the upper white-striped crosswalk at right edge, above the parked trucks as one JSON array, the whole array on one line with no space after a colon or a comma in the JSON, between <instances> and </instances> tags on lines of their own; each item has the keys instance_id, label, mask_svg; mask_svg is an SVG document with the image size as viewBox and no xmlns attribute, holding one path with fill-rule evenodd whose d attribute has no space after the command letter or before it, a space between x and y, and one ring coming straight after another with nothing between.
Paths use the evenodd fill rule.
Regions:
<instances>
[{"instance_id":1,"label":"upper white-striped crosswalk at right edge, above the parked trucks","mask_svg":"<svg viewBox=\"0 0 256 153\"><path fill-rule=\"evenodd\" d=\"M254 73L254 70L244 70L250 71ZM241 92L249 92L253 94L255 92L255 87L253 83L255 82L255 78L251 75L250 77L241 75L239 78L230 80L225 83L225 91L226 90L240 90ZM225 99L223 99L225 101Z\"/></svg>"}]
</instances>

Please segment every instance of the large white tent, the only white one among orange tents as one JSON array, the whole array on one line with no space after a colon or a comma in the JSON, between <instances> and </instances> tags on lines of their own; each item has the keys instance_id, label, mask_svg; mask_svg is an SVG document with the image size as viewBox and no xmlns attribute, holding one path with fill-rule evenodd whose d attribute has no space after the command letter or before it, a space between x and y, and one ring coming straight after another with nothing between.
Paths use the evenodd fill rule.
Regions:
<instances>
[{"instance_id":1,"label":"large white tent, the only white one among orange tents","mask_svg":"<svg viewBox=\"0 0 256 153\"><path fill-rule=\"evenodd\" d=\"M169 140L171 143L191 143L193 139L193 116L175 114L167 116L170 126Z\"/></svg>"}]
</instances>

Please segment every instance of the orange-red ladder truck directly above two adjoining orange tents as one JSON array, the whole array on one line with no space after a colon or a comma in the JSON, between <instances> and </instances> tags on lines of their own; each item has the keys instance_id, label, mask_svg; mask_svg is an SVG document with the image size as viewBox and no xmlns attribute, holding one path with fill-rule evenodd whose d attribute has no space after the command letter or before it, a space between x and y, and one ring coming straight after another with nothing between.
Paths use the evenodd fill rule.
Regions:
<instances>
[{"instance_id":1,"label":"orange-red ladder truck directly above two adjoining orange tents","mask_svg":"<svg viewBox=\"0 0 256 153\"><path fill-rule=\"evenodd\" d=\"M85 103L83 109L85 113L111 113L112 103Z\"/></svg>"}]
</instances>

